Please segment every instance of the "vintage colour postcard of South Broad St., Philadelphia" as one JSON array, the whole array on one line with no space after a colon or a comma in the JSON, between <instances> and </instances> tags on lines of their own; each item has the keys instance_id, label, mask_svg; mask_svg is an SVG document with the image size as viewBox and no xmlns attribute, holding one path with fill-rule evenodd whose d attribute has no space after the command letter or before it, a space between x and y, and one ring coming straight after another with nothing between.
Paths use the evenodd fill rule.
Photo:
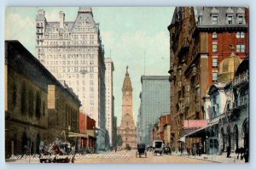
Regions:
<instances>
[{"instance_id":1,"label":"vintage colour postcard of South Broad St., Philadelphia","mask_svg":"<svg viewBox=\"0 0 256 169\"><path fill-rule=\"evenodd\" d=\"M247 7L6 7L7 163L249 162Z\"/></svg>"}]
</instances>

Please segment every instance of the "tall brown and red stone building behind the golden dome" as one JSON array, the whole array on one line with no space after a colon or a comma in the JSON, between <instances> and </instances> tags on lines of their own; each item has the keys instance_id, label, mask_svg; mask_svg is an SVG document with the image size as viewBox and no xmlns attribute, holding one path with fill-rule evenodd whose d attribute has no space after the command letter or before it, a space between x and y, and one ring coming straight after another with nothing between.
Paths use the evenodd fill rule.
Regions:
<instances>
[{"instance_id":1,"label":"tall brown and red stone building behind the golden dome","mask_svg":"<svg viewBox=\"0 0 256 169\"><path fill-rule=\"evenodd\" d=\"M170 32L170 82L172 87L172 145L193 130L184 120L204 120L203 96L218 81L218 63L235 48L241 59L248 54L247 8L177 7ZM201 139L187 141L186 147Z\"/></svg>"}]
</instances>

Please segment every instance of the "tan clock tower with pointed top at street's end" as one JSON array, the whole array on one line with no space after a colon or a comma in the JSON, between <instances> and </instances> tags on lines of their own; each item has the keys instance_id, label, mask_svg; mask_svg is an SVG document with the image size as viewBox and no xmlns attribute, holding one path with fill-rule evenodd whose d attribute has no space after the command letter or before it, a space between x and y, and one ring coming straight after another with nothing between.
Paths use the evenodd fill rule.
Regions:
<instances>
[{"instance_id":1,"label":"tan clock tower with pointed top at street's end","mask_svg":"<svg viewBox=\"0 0 256 169\"><path fill-rule=\"evenodd\" d=\"M128 66L126 67L125 80L122 88L123 92L123 114L122 121L119 127L119 135L122 137L123 144L122 147L125 148L127 145L130 147L137 146L136 137L136 126L133 119L132 113L132 87L131 79L128 73Z\"/></svg>"}]
</instances>

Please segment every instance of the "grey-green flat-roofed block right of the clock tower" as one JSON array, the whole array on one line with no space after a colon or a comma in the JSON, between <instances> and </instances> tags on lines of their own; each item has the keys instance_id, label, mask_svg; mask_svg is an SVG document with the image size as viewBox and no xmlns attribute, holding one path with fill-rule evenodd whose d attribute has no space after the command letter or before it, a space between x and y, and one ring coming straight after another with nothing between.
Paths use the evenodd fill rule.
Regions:
<instances>
[{"instance_id":1,"label":"grey-green flat-roofed block right of the clock tower","mask_svg":"<svg viewBox=\"0 0 256 169\"><path fill-rule=\"evenodd\" d=\"M137 118L139 142L152 144L152 128L161 115L170 114L169 76L142 76L141 104Z\"/></svg>"}]
</instances>

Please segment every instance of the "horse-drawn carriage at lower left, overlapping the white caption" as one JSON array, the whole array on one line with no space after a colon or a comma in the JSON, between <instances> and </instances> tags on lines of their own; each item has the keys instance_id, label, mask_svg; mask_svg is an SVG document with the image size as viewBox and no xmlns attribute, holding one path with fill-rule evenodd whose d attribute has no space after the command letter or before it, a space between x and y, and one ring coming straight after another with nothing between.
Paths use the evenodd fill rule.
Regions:
<instances>
[{"instance_id":1,"label":"horse-drawn carriage at lower left, overlapping the white caption","mask_svg":"<svg viewBox=\"0 0 256 169\"><path fill-rule=\"evenodd\" d=\"M40 163L69 163L74 162L74 149L69 143L51 144L43 147L40 153Z\"/></svg>"}]
</instances>

